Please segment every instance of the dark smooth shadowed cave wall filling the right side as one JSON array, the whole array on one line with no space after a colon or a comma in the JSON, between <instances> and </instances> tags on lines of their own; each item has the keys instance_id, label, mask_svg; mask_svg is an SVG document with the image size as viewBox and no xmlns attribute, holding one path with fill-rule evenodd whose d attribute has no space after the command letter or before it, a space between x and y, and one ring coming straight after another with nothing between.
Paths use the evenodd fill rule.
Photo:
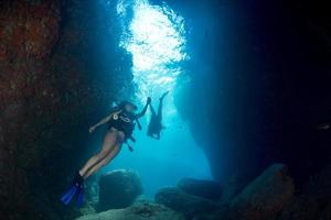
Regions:
<instances>
[{"instance_id":1,"label":"dark smooth shadowed cave wall filling the right side","mask_svg":"<svg viewBox=\"0 0 331 220\"><path fill-rule=\"evenodd\" d=\"M330 161L330 29L323 6L168 1L185 18L189 84L177 107L222 183L281 162L300 184ZM194 107L194 108L193 108ZM199 111L196 110L196 108Z\"/></svg>"}]
</instances>

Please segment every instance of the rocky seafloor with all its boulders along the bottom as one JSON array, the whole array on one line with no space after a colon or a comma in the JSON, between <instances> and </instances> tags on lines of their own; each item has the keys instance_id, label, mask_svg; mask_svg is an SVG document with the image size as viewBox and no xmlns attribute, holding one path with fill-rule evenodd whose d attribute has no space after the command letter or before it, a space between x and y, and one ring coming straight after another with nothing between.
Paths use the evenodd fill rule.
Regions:
<instances>
[{"instance_id":1,"label":"rocky seafloor with all its boulders along the bottom","mask_svg":"<svg viewBox=\"0 0 331 220\"><path fill-rule=\"evenodd\" d=\"M100 179L99 196L111 197L109 209L97 211L99 204L92 202L88 211L76 220L331 219L331 166L301 191L296 189L287 166L274 164L245 187L234 189L237 185L223 187L213 180L184 178L177 187L159 189L154 200L138 196L142 193L141 184L132 170L114 170ZM109 185L105 185L105 179ZM122 184L111 189L113 180ZM236 193L228 196L228 191ZM107 206L105 201L102 204Z\"/></svg>"}]
</instances>

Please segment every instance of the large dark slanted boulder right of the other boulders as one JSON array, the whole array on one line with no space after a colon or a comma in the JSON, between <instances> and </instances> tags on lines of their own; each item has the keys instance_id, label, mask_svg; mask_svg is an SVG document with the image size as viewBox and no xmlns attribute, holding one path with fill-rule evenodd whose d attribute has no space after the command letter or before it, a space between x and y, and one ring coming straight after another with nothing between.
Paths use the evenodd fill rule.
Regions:
<instances>
[{"instance_id":1,"label":"large dark slanted boulder right of the other boulders","mask_svg":"<svg viewBox=\"0 0 331 220\"><path fill-rule=\"evenodd\" d=\"M275 164L232 200L229 216L234 220L273 219L289 204L293 193L293 180L286 166Z\"/></svg>"}]
</instances>

